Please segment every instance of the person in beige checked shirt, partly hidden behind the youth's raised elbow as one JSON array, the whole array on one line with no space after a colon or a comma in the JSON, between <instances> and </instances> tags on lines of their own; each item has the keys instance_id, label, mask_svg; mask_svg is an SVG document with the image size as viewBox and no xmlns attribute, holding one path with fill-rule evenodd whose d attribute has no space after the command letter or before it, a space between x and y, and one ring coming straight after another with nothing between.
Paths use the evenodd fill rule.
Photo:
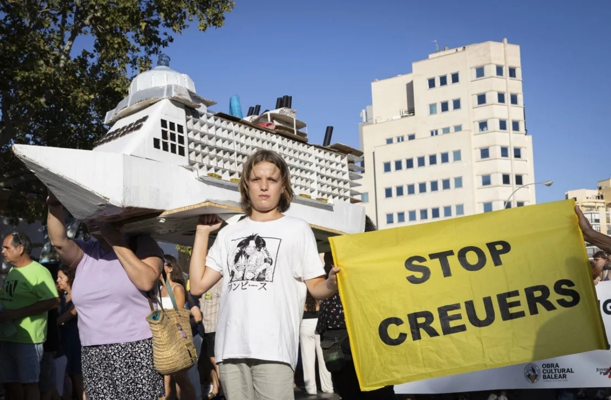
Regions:
<instances>
[{"instance_id":1,"label":"person in beige checked shirt, partly hidden behind the youth's raised elbow","mask_svg":"<svg viewBox=\"0 0 611 400\"><path fill-rule=\"evenodd\" d=\"M219 366L214 358L214 338L216 336L216 322L219 315L219 300L221 298L222 287L223 278L215 283L209 291L205 292L201 300L204 338L206 339L207 357L210 360L210 363L207 363L211 384L208 399L223 393L221 382L219 381Z\"/></svg>"}]
</instances>

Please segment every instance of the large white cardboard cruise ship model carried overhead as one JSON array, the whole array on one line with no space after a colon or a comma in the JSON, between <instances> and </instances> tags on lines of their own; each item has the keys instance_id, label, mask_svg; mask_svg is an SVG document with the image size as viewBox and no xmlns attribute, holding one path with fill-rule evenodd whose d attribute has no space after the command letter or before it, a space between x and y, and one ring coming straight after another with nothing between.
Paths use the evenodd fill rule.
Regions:
<instances>
[{"instance_id":1,"label":"large white cardboard cruise ship model carried overhead","mask_svg":"<svg viewBox=\"0 0 611 400\"><path fill-rule=\"evenodd\" d=\"M362 152L343 144L308 143L291 98L276 109L249 109L241 118L214 113L188 75L158 66L136 76L129 95L106 114L111 128L93 150L15 145L13 152L78 220L117 221L126 232L192 245L197 218L218 213L232 223L243 215L238 179L257 149L281 154L296 199L287 215L312 226L319 250L327 237L363 231L364 207L354 199ZM232 112L232 111L230 111Z\"/></svg>"}]
</instances>

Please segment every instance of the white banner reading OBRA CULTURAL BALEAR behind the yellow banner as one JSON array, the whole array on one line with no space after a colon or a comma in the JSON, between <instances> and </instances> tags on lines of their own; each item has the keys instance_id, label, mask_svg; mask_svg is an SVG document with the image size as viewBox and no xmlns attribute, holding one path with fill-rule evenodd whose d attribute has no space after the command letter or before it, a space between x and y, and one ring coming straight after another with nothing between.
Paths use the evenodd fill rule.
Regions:
<instances>
[{"instance_id":1,"label":"white banner reading OBRA CULTURAL BALEAR behind the yellow banner","mask_svg":"<svg viewBox=\"0 0 611 400\"><path fill-rule=\"evenodd\" d=\"M611 332L611 281L596 286L602 321ZM419 380L395 386L395 393L458 393L479 390L596 388L611 386L611 351L549 358L486 371Z\"/></svg>"}]
</instances>

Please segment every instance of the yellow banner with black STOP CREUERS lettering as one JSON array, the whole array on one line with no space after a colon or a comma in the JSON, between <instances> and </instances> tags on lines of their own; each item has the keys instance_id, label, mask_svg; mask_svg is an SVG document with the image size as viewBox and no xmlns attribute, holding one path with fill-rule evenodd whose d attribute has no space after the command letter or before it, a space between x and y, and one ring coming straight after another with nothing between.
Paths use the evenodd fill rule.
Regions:
<instances>
[{"instance_id":1,"label":"yellow banner with black STOP CREUERS lettering","mask_svg":"<svg viewBox=\"0 0 611 400\"><path fill-rule=\"evenodd\" d=\"M364 390L609 347L572 200L330 240Z\"/></svg>"}]
</instances>

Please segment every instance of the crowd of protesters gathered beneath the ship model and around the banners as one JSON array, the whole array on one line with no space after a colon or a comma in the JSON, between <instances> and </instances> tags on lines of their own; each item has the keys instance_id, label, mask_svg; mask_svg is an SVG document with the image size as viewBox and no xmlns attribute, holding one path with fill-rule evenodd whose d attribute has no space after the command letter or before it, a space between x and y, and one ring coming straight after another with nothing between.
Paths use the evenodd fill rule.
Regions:
<instances>
[{"instance_id":1,"label":"crowd of protesters gathered beneath the ship model and around the banners","mask_svg":"<svg viewBox=\"0 0 611 400\"><path fill-rule=\"evenodd\" d=\"M115 224L99 224L87 241L69 238L49 191L48 235L61 264L32 260L23 233L3 238L12 265L0 291L5 399L293 399L299 360L309 394L397 398L392 386L359 388L337 290L342 272L331 253L318 253L308 223L284 215L294 194L282 157L252 154L238 187L245 218L219 229L217 215L202 215L188 273L152 237L126 236ZM585 240L607 250L591 261L593 280L609 280L611 238L576 213ZM365 232L375 229L366 217ZM197 357L161 374L147 316L179 310L190 326L175 325Z\"/></svg>"}]
</instances>

